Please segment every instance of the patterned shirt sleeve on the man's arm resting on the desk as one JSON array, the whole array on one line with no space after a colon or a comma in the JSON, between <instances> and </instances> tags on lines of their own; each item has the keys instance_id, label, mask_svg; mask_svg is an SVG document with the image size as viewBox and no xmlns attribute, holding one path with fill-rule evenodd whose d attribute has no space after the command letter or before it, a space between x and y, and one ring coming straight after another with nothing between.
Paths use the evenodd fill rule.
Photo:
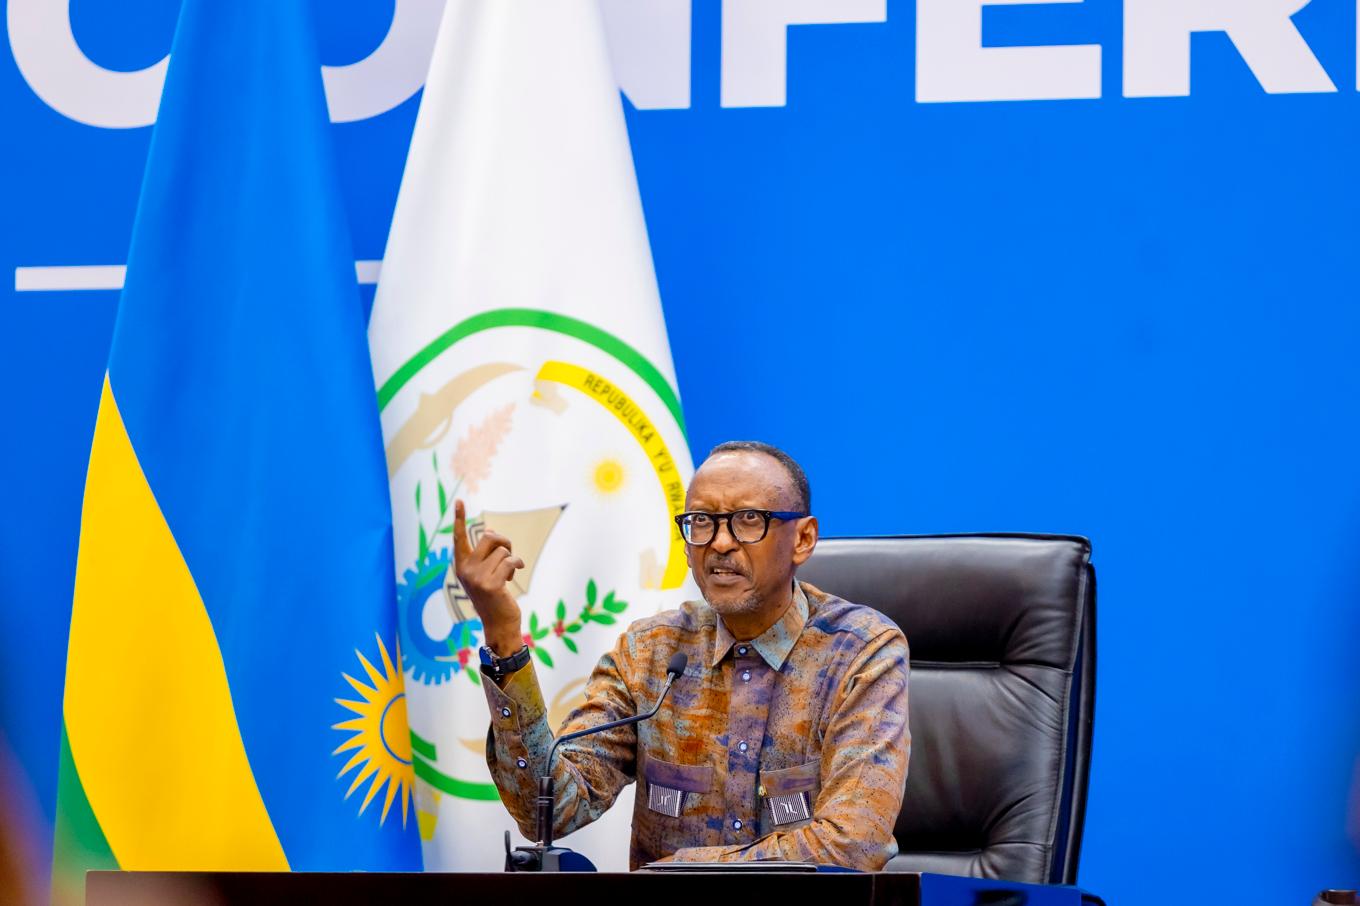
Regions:
<instances>
[{"instance_id":1,"label":"patterned shirt sleeve on the man's arm resting on the desk","mask_svg":"<svg viewBox=\"0 0 1360 906\"><path fill-rule=\"evenodd\" d=\"M879 871L896 854L892 827L911 755L907 726L907 639L877 635L836 692L821 748L821 789L812 820L755 843L694 846L670 858L691 862L783 860Z\"/></svg>"}]
</instances>

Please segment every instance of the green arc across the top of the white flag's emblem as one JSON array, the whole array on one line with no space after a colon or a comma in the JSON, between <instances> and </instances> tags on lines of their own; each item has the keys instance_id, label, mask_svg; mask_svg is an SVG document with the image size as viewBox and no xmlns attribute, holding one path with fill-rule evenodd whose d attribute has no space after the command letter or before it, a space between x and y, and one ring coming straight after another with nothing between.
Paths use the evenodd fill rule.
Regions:
<instances>
[{"instance_id":1,"label":"green arc across the top of the white flag's emblem","mask_svg":"<svg viewBox=\"0 0 1360 906\"><path fill-rule=\"evenodd\" d=\"M539 309L495 309L492 312L475 314L471 318L454 324L452 328L441 333L432 343L412 355L405 365L384 381L382 386L378 388L378 409L386 408L388 403L390 403L392 397L397 395L397 390L405 386L407 381L415 377L420 369L434 360L435 356L447 350L450 346L464 337L472 336L473 333L490 331L491 328L498 326L536 326L545 331L555 331L608 352L623 365L628 366L634 374L642 378L643 382L646 382L646 385L650 386L658 397L661 397L661 401L670 411L670 416L676 420L680 434L685 434L684 412L680 409L680 397L676 395L675 388L670 386L669 381L666 381L661 371L657 370L657 366L649 362L642 352L638 352L615 335L608 331L601 331L593 324L586 324L585 321L578 321L577 318L558 314L555 312L540 312Z\"/></svg>"}]
</instances>

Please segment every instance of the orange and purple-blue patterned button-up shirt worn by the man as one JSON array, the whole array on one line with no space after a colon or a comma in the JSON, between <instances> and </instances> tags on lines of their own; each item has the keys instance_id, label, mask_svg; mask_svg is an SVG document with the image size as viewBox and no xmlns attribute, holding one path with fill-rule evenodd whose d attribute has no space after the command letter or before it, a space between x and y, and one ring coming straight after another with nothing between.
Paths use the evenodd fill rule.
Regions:
<instances>
[{"instance_id":1,"label":"orange and purple-blue patterned button-up shirt worn by the man","mask_svg":"<svg viewBox=\"0 0 1360 906\"><path fill-rule=\"evenodd\" d=\"M688 601L620 635L560 732L650 710L676 652L690 661L656 717L558 748L554 834L600 818L636 781L632 868L664 857L883 868L911 752L902 630L806 582L751 642ZM537 676L530 665L483 688L491 775L533 838L554 740Z\"/></svg>"}]
</instances>

